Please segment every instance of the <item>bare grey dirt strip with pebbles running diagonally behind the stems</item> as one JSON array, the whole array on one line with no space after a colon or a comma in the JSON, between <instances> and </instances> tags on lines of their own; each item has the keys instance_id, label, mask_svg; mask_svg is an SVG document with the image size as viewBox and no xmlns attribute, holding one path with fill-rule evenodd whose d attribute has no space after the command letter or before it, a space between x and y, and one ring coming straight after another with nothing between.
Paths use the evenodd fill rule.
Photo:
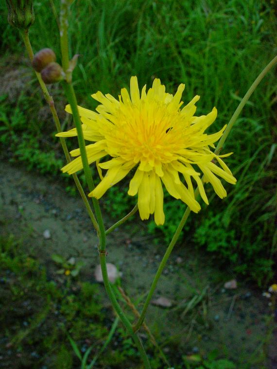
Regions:
<instances>
[{"instance_id":1,"label":"bare grey dirt strip with pebbles running diagonally behind the stems","mask_svg":"<svg viewBox=\"0 0 277 369\"><path fill-rule=\"evenodd\" d=\"M22 238L25 251L49 273L56 270L51 259L55 253L84 261L81 278L95 282L97 237L82 201L70 197L61 182L10 164L0 164L0 184L1 232ZM106 227L113 224L108 214L104 221ZM107 237L107 261L122 272L121 285L134 301L148 291L165 249L162 239L154 244L137 216ZM261 290L240 280L238 288L225 289L224 283L233 278L230 271L219 270L216 259L204 250L195 251L180 240L155 293L155 299L163 296L173 305L151 305L146 322L154 335L176 337L177 350L183 354L218 349L236 360L238 368L251 362L253 369L277 369L277 330L267 323L268 300ZM263 354L266 367L258 362Z\"/></svg>"}]
</instances>

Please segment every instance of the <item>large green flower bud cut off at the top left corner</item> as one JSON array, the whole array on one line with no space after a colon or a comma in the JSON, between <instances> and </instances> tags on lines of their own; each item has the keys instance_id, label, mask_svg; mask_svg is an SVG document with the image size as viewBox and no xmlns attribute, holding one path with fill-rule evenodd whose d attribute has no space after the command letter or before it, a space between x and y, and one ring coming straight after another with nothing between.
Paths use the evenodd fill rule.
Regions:
<instances>
[{"instance_id":1,"label":"large green flower bud cut off at the top left corner","mask_svg":"<svg viewBox=\"0 0 277 369\"><path fill-rule=\"evenodd\" d=\"M8 22L12 27L28 30L35 22L33 0L6 0Z\"/></svg>"}]
</instances>

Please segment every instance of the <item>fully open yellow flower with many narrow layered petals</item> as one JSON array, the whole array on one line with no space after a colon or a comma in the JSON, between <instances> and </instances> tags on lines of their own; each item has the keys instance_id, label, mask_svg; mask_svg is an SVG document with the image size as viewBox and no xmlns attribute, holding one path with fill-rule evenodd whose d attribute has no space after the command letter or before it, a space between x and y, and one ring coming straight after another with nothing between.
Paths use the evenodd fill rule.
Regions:
<instances>
[{"instance_id":1,"label":"fully open yellow flower with many narrow layered petals","mask_svg":"<svg viewBox=\"0 0 277 369\"><path fill-rule=\"evenodd\" d=\"M220 198L226 196L218 177L231 184L236 183L221 159L229 154L220 157L209 149L214 148L214 142L222 136L225 127L218 133L206 134L217 110L213 108L207 116L194 116L199 96L181 108L184 88L185 85L180 84L173 96L165 92L159 79L155 79L152 88L146 92L145 85L140 93L137 77L131 77L130 96L126 88L121 89L119 100L98 91L92 95L101 102L97 112L78 107L84 137L93 142L86 146L88 163L96 162L102 179L88 196L101 198L109 187L134 169L128 195L138 194L140 218L148 219L154 213L158 225L164 223L162 184L171 196L185 202L195 213L200 210L200 205L194 198L193 185L199 186L200 195L208 204L200 171L205 175L205 182L211 183ZM66 111L71 113L69 105ZM76 135L75 128L57 134L60 137ZM77 158L62 171L72 174L83 166L80 149L70 154ZM111 159L99 163L106 155ZM213 162L215 160L220 167ZM104 178L101 168L107 170Z\"/></svg>"}]
</instances>

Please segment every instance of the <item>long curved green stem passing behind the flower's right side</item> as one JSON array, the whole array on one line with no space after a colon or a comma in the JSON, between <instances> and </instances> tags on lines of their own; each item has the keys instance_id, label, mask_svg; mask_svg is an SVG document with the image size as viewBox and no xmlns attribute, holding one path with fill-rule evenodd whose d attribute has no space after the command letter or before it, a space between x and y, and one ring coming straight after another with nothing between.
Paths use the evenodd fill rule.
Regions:
<instances>
[{"instance_id":1,"label":"long curved green stem passing behind the flower's right side","mask_svg":"<svg viewBox=\"0 0 277 369\"><path fill-rule=\"evenodd\" d=\"M224 134L222 135L221 139L219 140L218 144L217 144L217 147L216 147L216 150L215 150L215 153L216 152L219 152L221 151L224 143L225 143L225 140L228 136L228 134L230 133L230 130L231 128L233 127L235 121L237 120L239 114L241 113L242 111L242 108L243 106L246 104L246 102L249 100L250 96L252 95L252 93L255 91L255 89L257 88L258 84L260 84L260 81L263 79L263 77L268 73L268 71L277 63L277 56L272 59L272 61L261 71L260 75L256 78L256 80L253 82L253 84L250 86L249 90L246 92L245 96L243 97L242 101L240 102L239 106L237 107L236 111L234 112L233 116L231 117L229 123L227 124L227 127L224 131ZM195 191L194 191L194 197L195 199L197 198L197 196L199 195L199 189L198 187L196 187ZM189 215L190 215L190 208L187 207L187 209L185 210L185 213L183 215L183 218L181 219L180 221L180 224L178 225L177 229L176 229L176 232L174 233L173 235L173 238L162 258L162 261L158 267L158 270L156 272L156 275L155 275L155 278L153 280L153 283L150 287L150 291L148 293L148 296L146 298L146 301L143 305L143 308L142 308L142 312L141 312L141 315L140 315L140 318L138 319L137 323L134 324L133 326L133 330L134 332L137 332L138 329L140 328L141 324L143 323L143 320L145 318L145 314L146 314L146 311L147 311L147 308L148 308L148 305L152 299L152 296L153 296L153 293L155 291L155 288L156 288L156 285L157 285L157 282L159 280L159 277L166 265L166 262L173 250L173 247L184 227L184 225L186 224L186 221L187 219L189 218Z\"/></svg>"}]
</instances>

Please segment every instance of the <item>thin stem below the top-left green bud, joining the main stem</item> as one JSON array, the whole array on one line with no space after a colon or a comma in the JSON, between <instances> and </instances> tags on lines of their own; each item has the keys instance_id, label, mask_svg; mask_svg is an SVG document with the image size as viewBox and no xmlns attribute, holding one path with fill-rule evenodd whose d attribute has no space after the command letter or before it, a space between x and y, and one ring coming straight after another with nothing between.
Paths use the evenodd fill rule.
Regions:
<instances>
[{"instance_id":1,"label":"thin stem below the top-left green bud, joining the main stem","mask_svg":"<svg viewBox=\"0 0 277 369\"><path fill-rule=\"evenodd\" d=\"M31 60L31 62L33 61L34 59L34 52L33 52L33 49L32 49L32 45L30 43L30 40L29 40L29 34L28 34L28 30L26 31L20 31L20 34L21 34L21 37L23 39L23 42L25 44L25 47L26 47L26 50L27 50L27 53L29 55L29 58ZM54 123L55 123L55 126L56 126L56 130L58 133L62 132L62 128L61 128L61 123L60 123L60 120L59 120L59 117L58 117L58 114L57 114L57 111L56 111L56 108L55 108L55 104L54 104L54 101L52 99L52 96L50 96L49 92L48 92L48 89L45 85L45 83L42 81L41 79L41 76L40 76L40 73L37 73L35 71L35 75L36 75L36 78L40 84L40 87L42 89L42 92L43 92L43 95L44 95L44 98L45 100L47 101L49 107L50 107L50 110L51 110L51 113L52 113L52 117L53 117L53 120L54 120ZM61 142L61 145L62 145L62 148L63 148L63 151L64 151L64 154L65 154L65 157L66 157L66 160L67 162L69 163L71 161L70 159L70 155L69 155L69 151L68 151L68 148L67 148L67 144L66 144L66 141L63 137L60 137L60 142ZM92 221L92 224L94 226L94 228L96 229L97 232L99 232L99 227L98 227L98 223L97 223L97 220L91 210L91 207L89 205L89 202L87 200L87 196L83 190L83 187L77 177L77 174L73 174L73 179L74 179L74 182L76 184L76 187L85 203L85 206L86 206L86 209L87 209L87 212L88 212L88 215L89 215L89 218L91 219Z\"/></svg>"}]
</instances>

